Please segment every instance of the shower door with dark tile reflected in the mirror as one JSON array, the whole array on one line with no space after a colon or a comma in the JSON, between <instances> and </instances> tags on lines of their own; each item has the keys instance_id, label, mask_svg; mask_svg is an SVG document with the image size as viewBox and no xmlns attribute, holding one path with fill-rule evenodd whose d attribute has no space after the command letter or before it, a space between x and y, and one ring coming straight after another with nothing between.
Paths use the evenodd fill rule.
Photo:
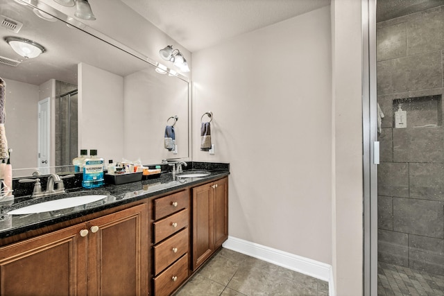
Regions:
<instances>
[{"instance_id":1,"label":"shower door with dark tile reflected in the mirror","mask_svg":"<svg viewBox=\"0 0 444 296\"><path fill-rule=\"evenodd\" d=\"M77 157L78 147L78 91L62 94L56 103L56 166L70 165Z\"/></svg>"}]
</instances>

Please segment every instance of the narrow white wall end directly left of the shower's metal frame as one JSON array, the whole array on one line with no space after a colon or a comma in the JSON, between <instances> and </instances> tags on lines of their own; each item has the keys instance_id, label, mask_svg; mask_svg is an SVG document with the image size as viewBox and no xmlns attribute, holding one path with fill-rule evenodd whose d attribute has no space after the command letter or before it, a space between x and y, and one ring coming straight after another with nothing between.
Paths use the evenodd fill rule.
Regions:
<instances>
[{"instance_id":1,"label":"narrow white wall end directly left of the shower's metal frame","mask_svg":"<svg viewBox=\"0 0 444 296\"><path fill-rule=\"evenodd\" d=\"M336 295L362 294L361 1L332 1L333 268Z\"/></svg>"}]
</instances>

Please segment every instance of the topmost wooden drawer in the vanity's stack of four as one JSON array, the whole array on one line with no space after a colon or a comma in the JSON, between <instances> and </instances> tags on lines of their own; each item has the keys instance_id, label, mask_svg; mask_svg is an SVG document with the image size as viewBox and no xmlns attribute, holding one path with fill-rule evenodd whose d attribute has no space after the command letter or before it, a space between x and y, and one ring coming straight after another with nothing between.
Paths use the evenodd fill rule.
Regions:
<instances>
[{"instance_id":1,"label":"topmost wooden drawer in the vanity's stack of four","mask_svg":"<svg viewBox=\"0 0 444 296\"><path fill-rule=\"evenodd\" d=\"M180 191L154 200L154 220L164 218L170 214L189 206L189 191Z\"/></svg>"}]
</instances>

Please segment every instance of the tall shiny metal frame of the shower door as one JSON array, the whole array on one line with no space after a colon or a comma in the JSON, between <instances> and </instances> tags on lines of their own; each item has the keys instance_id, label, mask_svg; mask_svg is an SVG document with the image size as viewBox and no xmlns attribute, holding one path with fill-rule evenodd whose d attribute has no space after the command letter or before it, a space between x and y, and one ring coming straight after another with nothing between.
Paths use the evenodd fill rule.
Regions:
<instances>
[{"instance_id":1,"label":"tall shiny metal frame of the shower door","mask_svg":"<svg viewBox=\"0 0 444 296\"><path fill-rule=\"evenodd\" d=\"M364 175L364 295L377 295L377 70L376 1L361 0Z\"/></svg>"}]
</instances>

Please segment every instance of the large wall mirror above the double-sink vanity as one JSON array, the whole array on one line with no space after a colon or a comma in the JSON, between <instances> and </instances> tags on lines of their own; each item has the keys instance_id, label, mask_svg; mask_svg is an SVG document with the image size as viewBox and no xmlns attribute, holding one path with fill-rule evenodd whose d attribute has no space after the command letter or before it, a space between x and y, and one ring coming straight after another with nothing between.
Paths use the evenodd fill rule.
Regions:
<instances>
[{"instance_id":1,"label":"large wall mirror above the double-sink vanity","mask_svg":"<svg viewBox=\"0 0 444 296\"><path fill-rule=\"evenodd\" d=\"M63 171L80 149L142 164L189 159L189 81L37 0L0 0L0 77L14 177ZM48 13L45 13L48 12ZM44 46L37 58L6 37ZM157 69L159 70L159 69ZM160 73L159 73L160 72ZM173 119L177 150L164 148ZM52 172L52 171L51 171Z\"/></svg>"}]
</instances>

